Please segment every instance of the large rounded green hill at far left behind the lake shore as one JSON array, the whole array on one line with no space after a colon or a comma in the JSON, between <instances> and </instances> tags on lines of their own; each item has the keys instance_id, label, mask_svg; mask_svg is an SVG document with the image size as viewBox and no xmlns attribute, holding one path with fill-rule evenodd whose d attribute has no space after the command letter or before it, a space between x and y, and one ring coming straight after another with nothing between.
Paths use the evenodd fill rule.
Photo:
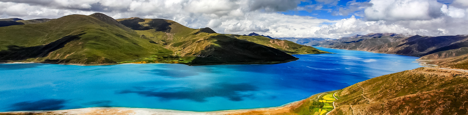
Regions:
<instances>
[{"instance_id":1,"label":"large rounded green hill at far left behind the lake shore","mask_svg":"<svg viewBox=\"0 0 468 115\"><path fill-rule=\"evenodd\" d=\"M104 14L68 15L44 23L0 27L0 60L116 63L167 54ZM124 48L120 48L124 47Z\"/></svg>"}]
</instances>

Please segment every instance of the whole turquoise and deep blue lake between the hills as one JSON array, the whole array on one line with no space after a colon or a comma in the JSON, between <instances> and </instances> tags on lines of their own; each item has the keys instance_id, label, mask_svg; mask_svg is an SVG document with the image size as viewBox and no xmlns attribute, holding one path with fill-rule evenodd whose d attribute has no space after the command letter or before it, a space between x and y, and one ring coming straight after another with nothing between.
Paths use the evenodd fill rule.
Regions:
<instances>
[{"instance_id":1,"label":"whole turquoise and deep blue lake between the hills","mask_svg":"<svg viewBox=\"0 0 468 115\"><path fill-rule=\"evenodd\" d=\"M417 57L317 47L273 65L0 64L0 111L88 107L215 111L281 106L384 74Z\"/></svg>"}]
</instances>

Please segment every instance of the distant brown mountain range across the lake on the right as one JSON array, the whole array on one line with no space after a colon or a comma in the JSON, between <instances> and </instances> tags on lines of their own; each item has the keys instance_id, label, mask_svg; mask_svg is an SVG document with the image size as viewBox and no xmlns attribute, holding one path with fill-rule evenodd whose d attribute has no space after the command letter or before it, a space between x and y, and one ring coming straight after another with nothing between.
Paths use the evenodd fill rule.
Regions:
<instances>
[{"instance_id":1,"label":"distant brown mountain range across the lake on the right","mask_svg":"<svg viewBox=\"0 0 468 115\"><path fill-rule=\"evenodd\" d=\"M297 41L296 41L297 42ZM428 65L468 69L468 35L421 36L393 33L354 35L320 42L317 47L401 54L420 57ZM298 42L301 43L301 42Z\"/></svg>"}]
</instances>

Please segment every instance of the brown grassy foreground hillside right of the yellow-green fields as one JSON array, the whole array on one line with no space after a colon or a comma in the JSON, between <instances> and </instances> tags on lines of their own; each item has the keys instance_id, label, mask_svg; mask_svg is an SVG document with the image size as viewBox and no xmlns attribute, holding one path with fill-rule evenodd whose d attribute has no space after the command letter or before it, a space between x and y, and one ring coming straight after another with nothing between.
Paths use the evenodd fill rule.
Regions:
<instances>
[{"instance_id":1,"label":"brown grassy foreground hillside right of the yellow-green fields","mask_svg":"<svg viewBox=\"0 0 468 115\"><path fill-rule=\"evenodd\" d=\"M466 115L467 75L417 68L362 81L338 93L329 115Z\"/></svg>"}]
</instances>

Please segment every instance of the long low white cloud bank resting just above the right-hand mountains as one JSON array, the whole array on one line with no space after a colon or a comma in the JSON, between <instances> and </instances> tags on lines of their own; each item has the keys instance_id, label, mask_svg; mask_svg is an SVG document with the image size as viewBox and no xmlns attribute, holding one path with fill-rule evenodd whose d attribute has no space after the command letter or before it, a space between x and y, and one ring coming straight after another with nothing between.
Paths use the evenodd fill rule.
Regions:
<instances>
[{"instance_id":1,"label":"long low white cloud bank resting just above the right-hand mountains","mask_svg":"<svg viewBox=\"0 0 468 115\"><path fill-rule=\"evenodd\" d=\"M460 25L468 25L468 21L447 16L431 20L366 21L363 19L356 19L352 16L336 24L324 26L314 34L317 36L329 36L330 38L368 33L419 34L430 36L467 34L468 27Z\"/></svg>"}]
</instances>

